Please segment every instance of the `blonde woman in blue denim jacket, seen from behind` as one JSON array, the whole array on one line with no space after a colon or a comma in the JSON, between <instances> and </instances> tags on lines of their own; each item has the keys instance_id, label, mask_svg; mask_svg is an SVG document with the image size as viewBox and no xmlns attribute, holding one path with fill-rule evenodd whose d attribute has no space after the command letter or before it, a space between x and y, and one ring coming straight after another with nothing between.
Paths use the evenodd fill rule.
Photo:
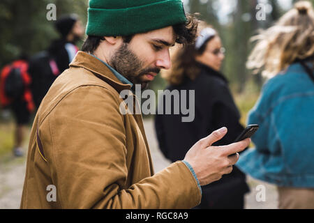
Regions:
<instances>
[{"instance_id":1,"label":"blonde woman in blue denim jacket, seen from behind","mask_svg":"<svg viewBox=\"0 0 314 223\"><path fill-rule=\"evenodd\" d=\"M248 68L270 79L248 123L260 129L237 167L278 186L278 208L314 208L314 13L299 1L254 38Z\"/></svg>"}]
</instances>

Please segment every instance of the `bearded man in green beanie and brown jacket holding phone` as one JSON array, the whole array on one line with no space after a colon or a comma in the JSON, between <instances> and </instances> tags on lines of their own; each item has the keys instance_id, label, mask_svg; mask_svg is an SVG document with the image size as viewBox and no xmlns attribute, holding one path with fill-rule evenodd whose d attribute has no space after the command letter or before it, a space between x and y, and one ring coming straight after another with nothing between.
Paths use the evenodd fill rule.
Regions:
<instances>
[{"instance_id":1,"label":"bearded man in green beanie and brown jacket holding phone","mask_svg":"<svg viewBox=\"0 0 314 223\"><path fill-rule=\"evenodd\" d=\"M221 128L154 174L141 114L119 111L119 93L169 69L196 28L181 0L89 1L89 37L33 123L21 208L193 208L200 185L232 171L250 140L211 146Z\"/></svg>"}]
</instances>

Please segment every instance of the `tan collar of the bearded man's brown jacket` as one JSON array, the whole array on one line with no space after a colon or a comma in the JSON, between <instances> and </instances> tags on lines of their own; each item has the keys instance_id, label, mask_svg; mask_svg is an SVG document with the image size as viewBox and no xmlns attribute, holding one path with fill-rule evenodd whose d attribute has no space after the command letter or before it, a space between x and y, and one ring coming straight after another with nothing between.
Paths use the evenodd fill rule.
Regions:
<instances>
[{"instance_id":1,"label":"tan collar of the bearded man's brown jacket","mask_svg":"<svg viewBox=\"0 0 314 223\"><path fill-rule=\"evenodd\" d=\"M93 72L96 77L110 84L119 93L122 90L130 90L130 84L123 84L103 62L87 52L77 52L75 58L70 63L70 67L84 68Z\"/></svg>"}]
</instances>

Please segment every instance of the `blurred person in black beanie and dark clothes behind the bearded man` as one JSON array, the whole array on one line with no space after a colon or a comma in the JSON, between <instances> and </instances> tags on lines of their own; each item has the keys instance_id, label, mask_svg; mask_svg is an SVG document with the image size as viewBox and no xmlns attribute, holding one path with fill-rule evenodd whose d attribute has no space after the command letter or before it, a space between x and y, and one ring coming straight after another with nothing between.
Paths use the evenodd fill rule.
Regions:
<instances>
[{"instance_id":1,"label":"blurred person in black beanie and dark clothes behind the bearded man","mask_svg":"<svg viewBox=\"0 0 314 223\"><path fill-rule=\"evenodd\" d=\"M84 36L82 22L75 14L62 15L54 26L61 37L29 61L29 73L33 80L31 91L37 109L54 80L69 68L78 51L75 43Z\"/></svg>"}]
</instances>

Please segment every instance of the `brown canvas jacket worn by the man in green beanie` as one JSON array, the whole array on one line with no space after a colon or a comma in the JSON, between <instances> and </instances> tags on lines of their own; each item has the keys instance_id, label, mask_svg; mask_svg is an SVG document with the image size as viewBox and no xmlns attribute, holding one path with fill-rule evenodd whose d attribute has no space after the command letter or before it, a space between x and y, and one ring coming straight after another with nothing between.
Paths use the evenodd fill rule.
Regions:
<instances>
[{"instance_id":1,"label":"brown canvas jacket worn by the man in green beanie","mask_svg":"<svg viewBox=\"0 0 314 223\"><path fill-rule=\"evenodd\" d=\"M121 84L105 64L77 53L33 122L21 208L193 208L200 203L197 181L183 162L154 174L142 116L119 111L124 89L130 85Z\"/></svg>"}]
</instances>

